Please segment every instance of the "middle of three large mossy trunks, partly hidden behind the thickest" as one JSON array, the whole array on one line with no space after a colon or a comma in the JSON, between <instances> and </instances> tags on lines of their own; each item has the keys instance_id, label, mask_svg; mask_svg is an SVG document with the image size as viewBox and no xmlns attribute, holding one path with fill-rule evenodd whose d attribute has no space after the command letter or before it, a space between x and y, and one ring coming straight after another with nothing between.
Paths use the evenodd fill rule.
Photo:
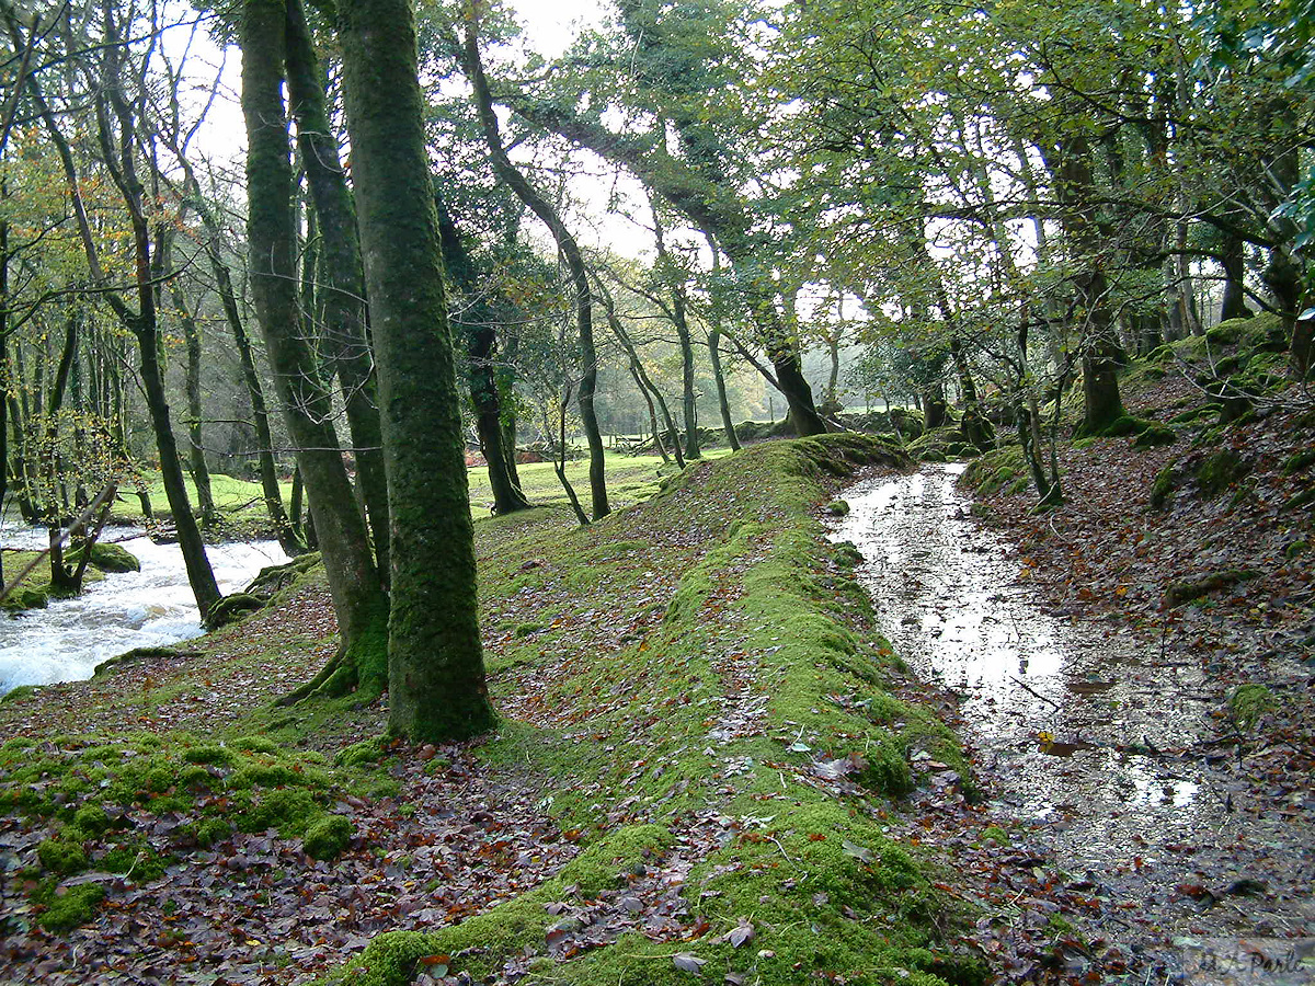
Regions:
<instances>
[{"instance_id":1,"label":"middle of three large mossy trunks, partly hidden behind the thickest","mask_svg":"<svg viewBox=\"0 0 1315 986\"><path fill-rule=\"evenodd\" d=\"M347 429L356 458L356 485L366 505L379 573L388 582L388 480L375 364L366 331L366 284L356 235L356 210L338 160L323 82L301 0L287 0L288 101L320 230L317 308L320 338L342 387ZM308 309L309 313L309 309Z\"/></svg>"}]
</instances>

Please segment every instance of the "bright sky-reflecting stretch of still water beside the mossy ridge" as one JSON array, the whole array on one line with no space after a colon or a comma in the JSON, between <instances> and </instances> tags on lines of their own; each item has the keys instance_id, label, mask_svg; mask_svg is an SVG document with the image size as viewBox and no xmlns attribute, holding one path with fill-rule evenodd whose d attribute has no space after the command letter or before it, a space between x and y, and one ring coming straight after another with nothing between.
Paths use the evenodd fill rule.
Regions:
<instances>
[{"instance_id":1,"label":"bright sky-reflecting stretch of still water beside the mossy ridge","mask_svg":"<svg viewBox=\"0 0 1315 986\"><path fill-rule=\"evenodd\" d=\"M831 536L863 553L859 578L896 652L961 697L960 732L1016 816L1081 805L1120 816L1122 830L1197 824L1199 780L1136 755L1195 739L1199 709L1178 707L1194 672L1173 669L1176 688L1161 689L1153 674L1165 669L1139 667L1130 636L1041 609L1019 581L1024 559L970 517L961 472L928 464L843 494L849 514Z\"/></svg>"}]
</instances>

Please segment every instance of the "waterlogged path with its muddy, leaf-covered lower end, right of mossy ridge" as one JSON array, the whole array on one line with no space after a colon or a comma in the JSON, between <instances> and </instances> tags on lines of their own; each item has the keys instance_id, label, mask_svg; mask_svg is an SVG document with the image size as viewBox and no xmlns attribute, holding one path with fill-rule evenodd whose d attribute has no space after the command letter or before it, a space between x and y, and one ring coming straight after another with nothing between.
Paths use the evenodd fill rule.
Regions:
<instances>
[{"instance_id":1,"label":"waterlogged path with its muddy, leaf-covered lower end, right of mossy ridge","mask_svg":"<svg viewBox=\"0 0 1315 986\"><path fill-rule=\"evenodd\" d=\"M857 484L832 536L896 651L959 699L985 803L942 785L910 830L988 906L978 944L1010 981L1315 982L1308 784L1220 716L1205 655L1048 611L957 472Z\"/></svg>"}]
</instances>

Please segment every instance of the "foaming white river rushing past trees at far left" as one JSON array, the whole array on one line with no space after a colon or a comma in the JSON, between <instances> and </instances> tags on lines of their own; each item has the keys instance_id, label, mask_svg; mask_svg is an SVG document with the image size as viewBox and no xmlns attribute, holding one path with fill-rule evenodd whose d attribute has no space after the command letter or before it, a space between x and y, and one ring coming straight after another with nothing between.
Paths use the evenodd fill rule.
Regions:
<instances>
[{"instance_id":1,"label":"foaming white river rushing past trees at far left","mask_svg":"<svg viewBox=\"0 0 1315 986\"><path fill-rule=\"evenodd\" d=\"M178 544L155 544L141 535L124 539L114 528L104 540L133 552L142 571L107 575L78 598L51 599L45 610L0 615L0 694L18 685L88 678L97 664L124 651L204 632ZM0 528L7 548L39 550L46 542L43 530ZM206 555L224 593L288 560L277 542L214 544ZM12 577L11 568L5 575Z\"/></svg>"}]
</instances>

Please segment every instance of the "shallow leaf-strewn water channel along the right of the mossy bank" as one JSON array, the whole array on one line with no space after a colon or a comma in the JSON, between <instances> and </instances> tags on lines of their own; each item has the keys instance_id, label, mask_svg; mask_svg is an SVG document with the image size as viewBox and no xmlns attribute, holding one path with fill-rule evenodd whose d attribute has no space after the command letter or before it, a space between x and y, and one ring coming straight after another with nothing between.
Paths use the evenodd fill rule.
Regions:
<instances>
[{"instance_id":1,"label":"shallow leaf-strewn water channel along the right of the mossy bank","mask_svg":"<svg viewBox=\"0 0 1315 986\"><path fill-rule=\"evenodd\" d=\"M1287 802L1212 744L1219 695L1201 663L1048 611L1020 577L1027 560L972 517L961 472L860 481L831 538L863 553L859 578L896 652L959 697L953 726L990 816L1027 827L1057 869L1131 908L1105 933L1159 954L1166 982L1315 981L1306 965L1255 968L1261 947L1315 954L1310 845L1273 811ZM1262 881L1264 899L1222 890L1226 903L1205 908L1178 889L1237 877Z\"/></svg>"}]
</instances>

